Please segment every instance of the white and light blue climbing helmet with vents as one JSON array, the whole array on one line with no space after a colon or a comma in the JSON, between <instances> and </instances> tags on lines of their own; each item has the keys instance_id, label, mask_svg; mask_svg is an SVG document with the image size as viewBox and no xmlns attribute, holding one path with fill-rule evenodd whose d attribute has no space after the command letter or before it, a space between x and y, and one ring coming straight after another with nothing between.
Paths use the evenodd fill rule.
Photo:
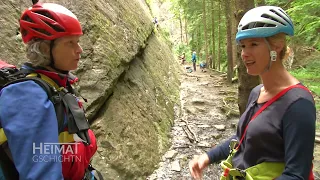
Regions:
<instances>
[{"instance_id":1,"label":"white and light blue climbing helmet with vents","mask_svg":"<svg viewBox=\"0 0 320 180\"><path fill-rule=\"evenodd\" d=\"M270 37L278 33L293 36L293 23L287 13L276 6L260 6L249 10L240 20L236 41Z\"/></svg>"}]
</instances>

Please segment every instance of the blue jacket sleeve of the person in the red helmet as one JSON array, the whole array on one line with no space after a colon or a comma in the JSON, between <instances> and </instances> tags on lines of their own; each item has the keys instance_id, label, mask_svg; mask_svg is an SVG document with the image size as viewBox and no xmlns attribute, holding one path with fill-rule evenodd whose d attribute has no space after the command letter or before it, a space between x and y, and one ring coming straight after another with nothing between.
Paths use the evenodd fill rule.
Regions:
<instances>
[{"instance_id":1,"label":"blue jacket sleeve of the person in the red helmet","mask_svg":"<svg viewBox=\"0 0 320 180\"><path fill-rule=\"evenodd\" d=\"M40 143L58 143L55 109L43 88L33 81L4 88L0 122L20 179L63 179L59 152L49 150L50 154L44 155L44 151L34 151Z\"/></svg>"}]
</instances>

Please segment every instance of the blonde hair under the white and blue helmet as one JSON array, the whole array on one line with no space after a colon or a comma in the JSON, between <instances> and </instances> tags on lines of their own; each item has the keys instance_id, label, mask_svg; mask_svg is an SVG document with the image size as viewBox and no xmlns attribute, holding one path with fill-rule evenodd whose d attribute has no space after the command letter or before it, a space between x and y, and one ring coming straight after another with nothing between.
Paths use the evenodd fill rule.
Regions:
<instances>
[{"instance_id":1,"label":"blonde hair under the white and blue helmet","mask_svg":"<svg viewBox=\"0 0 320 180\"><path fill-rule=\"evenodd\" d=\"M275 45L277 43L283 43L283 48L280 51L280 60L283 62L289 57L290 48L287 48L287 41L286 41L286 34L285 33L279 33L276 35L273 35L271 37L267 37L268 42L271 45Z\"/></svg>"}]
</instances>

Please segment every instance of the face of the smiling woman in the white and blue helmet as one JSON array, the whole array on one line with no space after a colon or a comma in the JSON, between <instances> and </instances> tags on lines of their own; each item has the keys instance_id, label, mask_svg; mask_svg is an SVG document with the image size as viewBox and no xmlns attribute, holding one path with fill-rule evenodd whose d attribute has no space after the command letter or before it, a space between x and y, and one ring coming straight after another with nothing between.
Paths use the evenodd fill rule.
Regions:
<instances>
[{"instance_id":1,"label":"face of the smiling woman in the white and blue helmet","mask_svg":"<svg viewBox=\"0 0 320 180\"><path fill-rule=\"evenodd\" d=\"M241 58L250 75L260 75L270 61L269 48L264 38L248 38L240 41Z\"/></svg>"}]
</instances>

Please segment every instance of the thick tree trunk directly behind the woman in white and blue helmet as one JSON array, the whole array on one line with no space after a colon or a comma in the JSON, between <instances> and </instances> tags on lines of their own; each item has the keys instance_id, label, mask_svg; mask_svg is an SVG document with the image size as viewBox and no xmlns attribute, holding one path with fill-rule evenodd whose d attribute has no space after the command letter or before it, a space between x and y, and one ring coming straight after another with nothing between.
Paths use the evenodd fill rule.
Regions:
<instances>
[{"instance_id":1,"label":"thick tree trunk directly behind the woman in white and blue helmet","mask_svg":"<svg viewBox=\"0 0 320 180\"><path fill-rule=\"evenodd\" d=\"M239 24L242 16L249 10L254 7L253 0L236 0L237 5L237 25ZM238 79L239 79L239 86L238 86L238 105L240 114L242 114L248 102L248 98L250 95L251 90L260 83L259 76L251 76L247 73L247 69L242 63L241 60L241 51L240 49L237 50L238 52Z\"/></svg>"}]
</instances>

